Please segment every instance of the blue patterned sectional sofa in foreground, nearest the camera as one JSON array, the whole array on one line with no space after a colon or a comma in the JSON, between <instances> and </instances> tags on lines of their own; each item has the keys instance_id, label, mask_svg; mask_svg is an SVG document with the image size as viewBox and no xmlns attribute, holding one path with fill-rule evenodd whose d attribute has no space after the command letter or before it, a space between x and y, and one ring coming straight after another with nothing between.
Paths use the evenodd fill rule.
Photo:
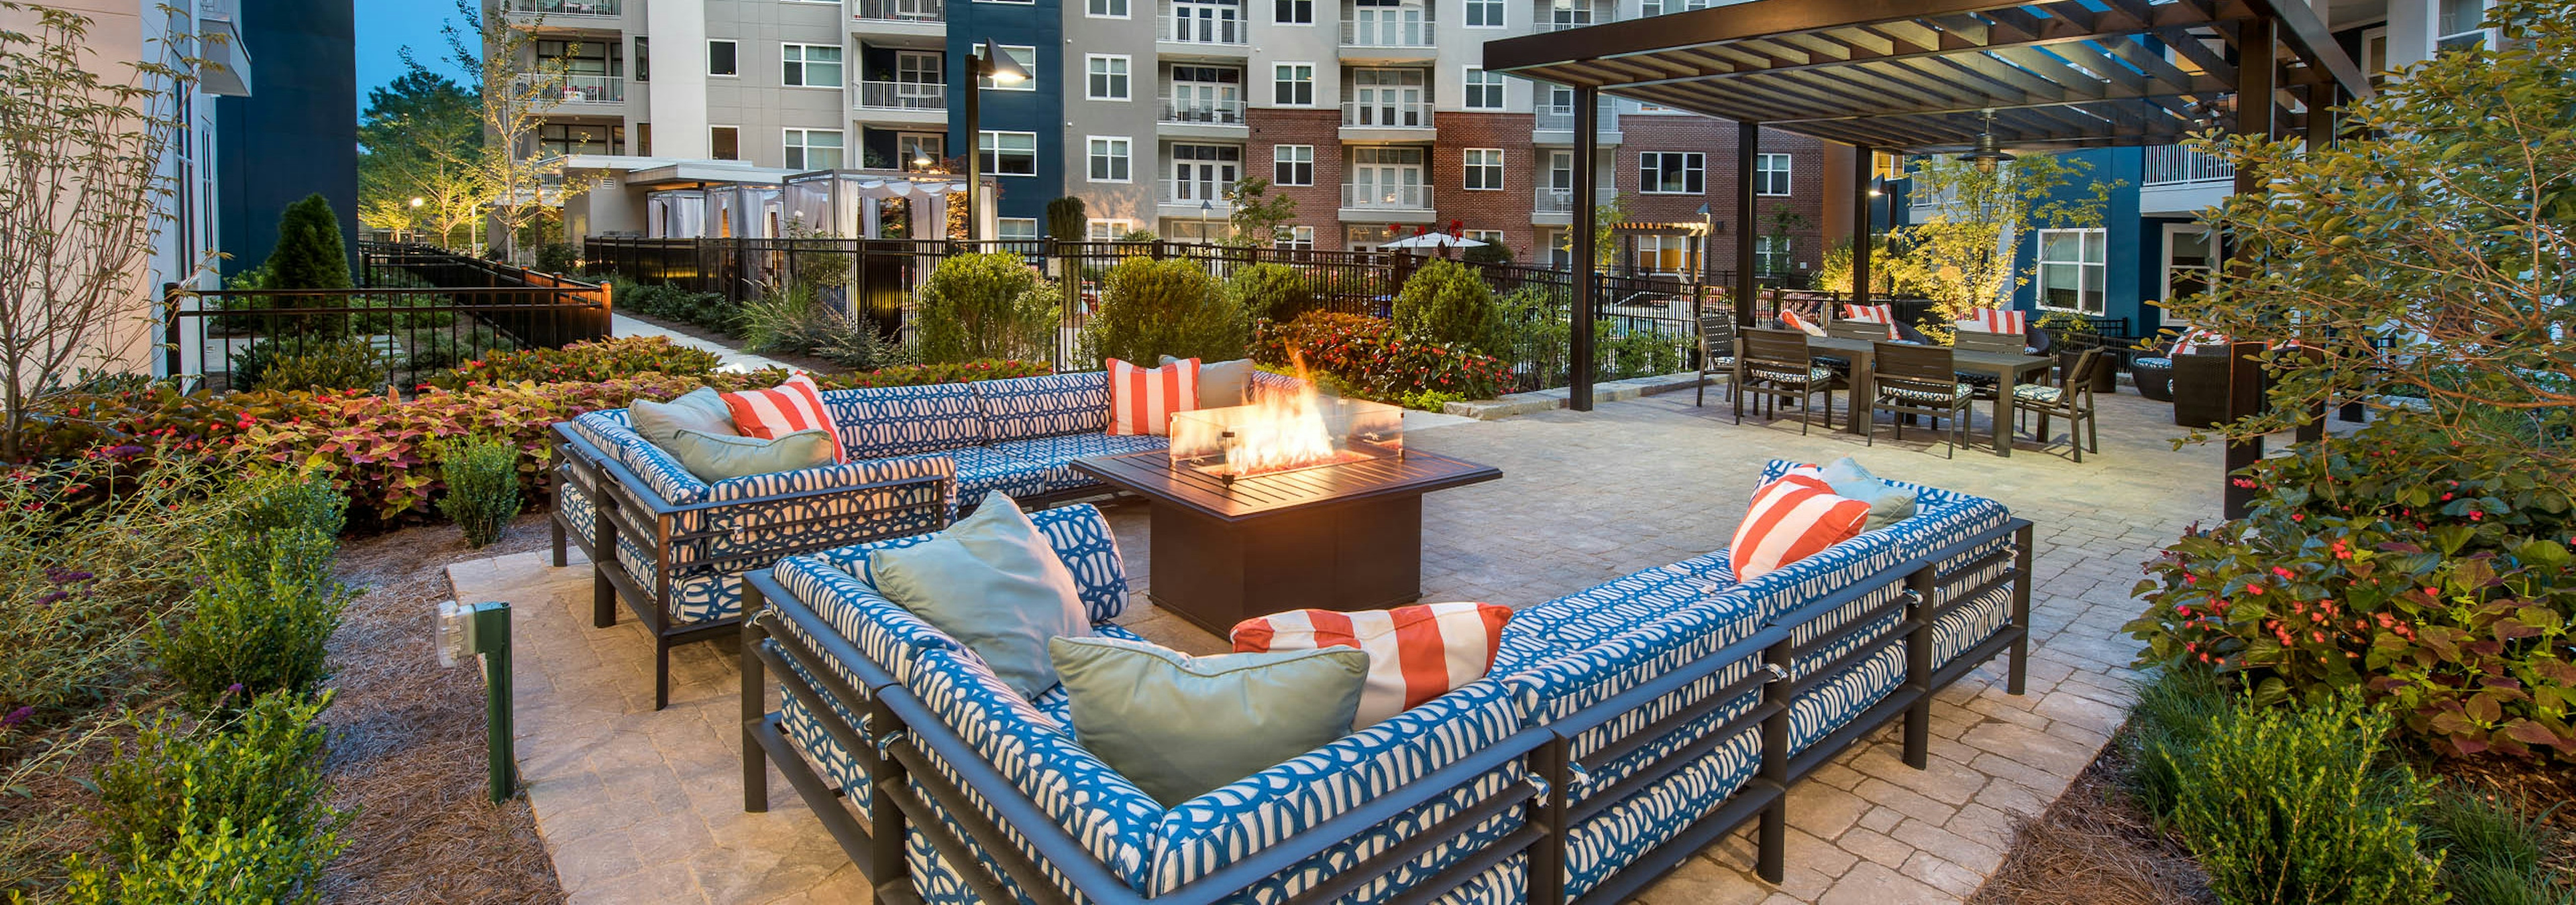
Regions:
<instances>
[{"instance_id":1,"label":"blue patterned sectional sofa in foreground, nearest the camera","mask_svg":"<svg viewBox=\"0 0 2576 905\"><path fill-rule=\"evenodd\" d=\"M1486 679L1175 807L1064 689L876 594L871 553L917 537L783 558L747 581L744 807L778 766L894 902L1618 902L1747 820L1777 879L1788 784L1899 717L1922 766L1932 692L1996 653L2022 689L2030 522L1896 486L1914 519L1754 581L1721 550L1522 609ZM1036 522L1133 638L1100 514Z\"/></svg>"}]
</instances>

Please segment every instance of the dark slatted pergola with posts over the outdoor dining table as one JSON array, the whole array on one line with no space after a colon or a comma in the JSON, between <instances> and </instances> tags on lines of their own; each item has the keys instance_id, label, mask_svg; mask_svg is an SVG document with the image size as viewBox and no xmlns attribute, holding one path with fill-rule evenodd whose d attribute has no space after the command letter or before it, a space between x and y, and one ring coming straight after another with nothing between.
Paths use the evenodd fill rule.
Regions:
<instances>
[{"instance_id":1,"label":"dark slatted pergola with posts over the outdoor dining table","mask_svg":"<svg viewBox=\"0 0 2576 905\"><path fill-rule=\"evenodd\" d=\"M2177 144L2210 126L2326 141L2329 111L2370 93L2303 0L1752 0L1486 41L1484 69L1574 87L1574 409L1592 409L1600 95L1747 126L1736 224L1754 221L1759 129L1852 144L1852 285L1868 285L1873 152ZM2236 190L2254 180L2239 170ZM1741 324L1752 260L1754 231L1736 229Z\"/></svg>"}]
</instances>

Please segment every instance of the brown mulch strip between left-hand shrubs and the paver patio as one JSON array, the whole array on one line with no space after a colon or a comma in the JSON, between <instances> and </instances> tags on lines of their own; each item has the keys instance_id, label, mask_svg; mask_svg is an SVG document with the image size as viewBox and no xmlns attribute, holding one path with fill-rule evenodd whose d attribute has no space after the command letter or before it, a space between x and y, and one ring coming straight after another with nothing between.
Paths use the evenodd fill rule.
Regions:
<instances>
[{"instance_id":1,"label":"brown mulch strip between left-hand shrubs and the paver patio","mask_svg":"<svg viewBox=\"0 0 2576 905\"><path fill-rule=\"evenodd\" d=\"M466 550L453 524L345 537L340 581L363 586L332 638L330 776L358 807L350 848L325 877L330 902L562 902L528 800L492 805L479 668L438 666L433 614L446 566L546 545L523 514Z\"/></svg>"}]
</instances>

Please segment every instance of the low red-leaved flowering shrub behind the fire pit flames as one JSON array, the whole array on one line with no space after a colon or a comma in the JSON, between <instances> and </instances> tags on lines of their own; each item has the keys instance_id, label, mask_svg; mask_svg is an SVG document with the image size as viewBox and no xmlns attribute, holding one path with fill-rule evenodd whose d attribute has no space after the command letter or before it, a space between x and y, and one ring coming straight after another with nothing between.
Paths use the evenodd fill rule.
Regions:
<instances>
[{"instance_id":1,"label":"low red-leaved flowering shrub behind the fire pit flames","mask_svg":"<svg viewBox=\"0 0 2576 905\"><path fill-rule=\"evenodd\" d=\"M1417 393L1492 399L1512 378L1499 357L1453 342L1406 339L1394 321L1363 314L1309 314L1288 324L1255 324L1252 360L1334 375L1368 399L1401 401Z\"/></svg>"}]
</instances>

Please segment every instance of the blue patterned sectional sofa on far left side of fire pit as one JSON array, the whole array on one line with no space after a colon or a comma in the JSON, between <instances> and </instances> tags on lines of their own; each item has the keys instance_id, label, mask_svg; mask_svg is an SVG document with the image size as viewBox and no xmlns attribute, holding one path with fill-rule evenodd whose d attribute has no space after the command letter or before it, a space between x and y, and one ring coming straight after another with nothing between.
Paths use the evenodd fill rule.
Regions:
<instances>
[{"instance_id":1,"label":"blue patterned sectional sofa on far left side of fire pit","mask_svg":"<svg viewBox=\"0 0 2576 905\"><path fill-rule=\"evenodd\" d=\"M1257 386L1293 386L1260 373ZM1164 450L1164 437L1110 437L1108 373L824 391L850 463L698 481L603 409L554 424L554 563L567 542L592 563L592 622L616 604L654 632L654 707L670 702L670 648L729 638L742 573L788 553L920 535L984 494L1046 504L1100 494L1077 458ZM605 540L605 542L603 542ZM600 555L613 548L616 555Z\"/></svg>"}]
</instances>

